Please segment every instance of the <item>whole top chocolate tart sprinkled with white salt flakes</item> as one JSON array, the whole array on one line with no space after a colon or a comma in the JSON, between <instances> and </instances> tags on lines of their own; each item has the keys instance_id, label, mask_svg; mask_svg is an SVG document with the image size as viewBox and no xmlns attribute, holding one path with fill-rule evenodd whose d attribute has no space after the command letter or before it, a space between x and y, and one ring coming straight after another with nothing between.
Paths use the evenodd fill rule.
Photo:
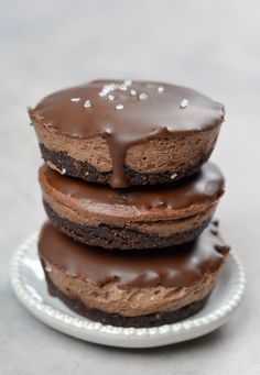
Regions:
<instances>
[{"instance_id":1,"label":"whole top chocolate tart sprinkled with white salt flakes","mask_svg":"<svg viewBox=\"0 0 260 375\"><path fill-rule=\"evenodd\" d=\"M224 107L185 87L96 80L44 98L29 114L50 167L122 188L195 174Z\"/></svg>"}]
</instances>

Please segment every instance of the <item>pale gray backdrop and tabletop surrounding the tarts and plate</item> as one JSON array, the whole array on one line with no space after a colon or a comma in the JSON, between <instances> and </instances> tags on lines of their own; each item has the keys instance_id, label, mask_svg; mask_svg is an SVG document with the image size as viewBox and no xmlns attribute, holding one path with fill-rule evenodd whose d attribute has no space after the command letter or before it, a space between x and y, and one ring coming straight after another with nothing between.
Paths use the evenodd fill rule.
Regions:
<instances>
[{"instance_id":1,"label":"pale gray backdrop and tabletop surrounding the tarts and plate","mask_svg":"<svg viewBox=\"0 0 260 375\"><path fill-rule=\"evenodd\" d=\"M0 373L259 374L260 2L10 0L0 8ZM169 80L226 106L213 155L227 177L218 217L248 287L213 334L155 350L98 346L43 326L10 290L11 254L44 220L26 106L97 77Z\"/></svg>"}]
</instances>

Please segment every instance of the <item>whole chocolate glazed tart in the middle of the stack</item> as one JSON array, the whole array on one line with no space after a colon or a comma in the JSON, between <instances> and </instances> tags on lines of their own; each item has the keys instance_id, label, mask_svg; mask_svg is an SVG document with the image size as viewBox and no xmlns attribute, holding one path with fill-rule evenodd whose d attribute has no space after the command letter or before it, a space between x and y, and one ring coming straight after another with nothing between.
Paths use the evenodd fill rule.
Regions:
<instances>
[{"instance_id":1,"label":"whole chocolate glazed tart in the middle of the stack","mask_svg":"<svg viewBox=\"0 0 260 375\"><path fill-rule=\"evenodd\" d=\"M46 213L59 231L91 246L122 251L196 239L224 192L224 177L212 163L174 186L116 190L61 176L46 165L39 178Z\"/></svg>"}]
</instances>

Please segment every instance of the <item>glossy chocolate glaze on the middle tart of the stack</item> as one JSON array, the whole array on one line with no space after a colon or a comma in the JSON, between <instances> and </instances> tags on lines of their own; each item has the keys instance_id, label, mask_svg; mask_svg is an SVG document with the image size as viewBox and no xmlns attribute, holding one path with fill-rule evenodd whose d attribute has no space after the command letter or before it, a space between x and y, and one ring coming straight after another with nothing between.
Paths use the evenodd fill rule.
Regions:
<instances>
[{"instance_id":1,"label":"glossy chocolate glaze on the middle tart of the stack","mask_svg":"<svg viewBox=\"0 0 260 375\"><path fill-rule=\"evenodd\" d=\"M108 186L94 185L80 179L61 175L46 165L40 168L42 177L55 190L67 197L82 201L84 205L131 206L149 210L154 208L185 209L193 205L218 199L224 192L224 176L213 164L205 164L201 172L174 185L129 188L116 190Z\"/></svg>"}]
</instances>

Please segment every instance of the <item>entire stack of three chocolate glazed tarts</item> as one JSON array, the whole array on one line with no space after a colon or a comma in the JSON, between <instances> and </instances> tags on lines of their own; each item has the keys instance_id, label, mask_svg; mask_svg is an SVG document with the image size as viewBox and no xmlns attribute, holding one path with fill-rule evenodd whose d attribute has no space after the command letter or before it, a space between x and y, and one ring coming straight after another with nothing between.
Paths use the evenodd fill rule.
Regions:
<instances>
[{"instance_id":1,"label":"entire stack of three chocolate glazed tarts","mask_svg":"<svg viewBox=\"0 0 260 375\"><path fill-rule=\"evenodd\" d=\"M96 80L29 113L45 161L39 254L51 295L121 327L198 311L229 251L212 221L224 177L207 163L223 106L185 87Z\"/></svg>"}]
</instances>

